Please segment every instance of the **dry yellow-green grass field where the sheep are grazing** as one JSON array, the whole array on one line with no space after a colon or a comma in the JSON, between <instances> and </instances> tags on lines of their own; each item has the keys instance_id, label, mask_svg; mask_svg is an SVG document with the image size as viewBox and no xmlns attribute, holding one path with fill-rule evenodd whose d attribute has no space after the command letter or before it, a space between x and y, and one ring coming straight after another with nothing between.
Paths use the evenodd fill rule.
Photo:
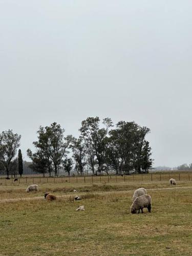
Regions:
<instances>
[{"instance_id":1,"label":"dry yellow-green grass field where the sheep are grazing","mask_svg":"<svg viewBox=\"0 0 192 256\"><path fill-rule=\"evenodd\" d=\"M43 196L45 190L66 195L55 202L1 202L0 255L191 255L192 182L148 190L151 214L144 209L144 214L132 215L131 197L140 186L170 187L165 181L42 184L38 193L27 195L23 185L0 187L2 199ZM74 187L81 201L71 200ZM78 205L86 211L76 211Z\"/></svg>"}]
</instances>

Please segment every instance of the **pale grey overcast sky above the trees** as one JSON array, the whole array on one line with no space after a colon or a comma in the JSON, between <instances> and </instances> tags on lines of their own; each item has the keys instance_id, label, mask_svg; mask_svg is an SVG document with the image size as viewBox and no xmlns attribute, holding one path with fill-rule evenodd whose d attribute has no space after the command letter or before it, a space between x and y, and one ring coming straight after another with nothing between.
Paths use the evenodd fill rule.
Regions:
<instances>
[{"instance_id":1,"label":"pale grey overcast sky above the trees","mask_svg":"<svg viewBox=\"0 0 192 256\"><path fill-rule=\"evenodd\" d=\"M0 0L0 132L27 148L88 116L151 129L154 166L191 163L192 1Z\"/></svg>"}]
</instances>

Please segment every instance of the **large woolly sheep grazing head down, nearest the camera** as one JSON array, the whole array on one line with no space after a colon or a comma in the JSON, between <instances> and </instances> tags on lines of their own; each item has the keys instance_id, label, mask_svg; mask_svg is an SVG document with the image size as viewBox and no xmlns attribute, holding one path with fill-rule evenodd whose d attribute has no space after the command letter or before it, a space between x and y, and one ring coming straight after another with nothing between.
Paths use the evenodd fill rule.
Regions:
<instances>
[{"instance_id":1,"label":"large woolly sheep grazing head down, nearest the camera","mask_svg":"<svg viewBox=\"0 0 192 256\"><path fill-rule=\"evenodd\" d=\"M148 211L151 212L152 198L150 195L142 195L140 197L137 197L131 206L131 213L136 214L138 210L138 214L139 214L141 209L141 212L143 214L143 208L147 208Z\"/></svg>"}]
</instances>

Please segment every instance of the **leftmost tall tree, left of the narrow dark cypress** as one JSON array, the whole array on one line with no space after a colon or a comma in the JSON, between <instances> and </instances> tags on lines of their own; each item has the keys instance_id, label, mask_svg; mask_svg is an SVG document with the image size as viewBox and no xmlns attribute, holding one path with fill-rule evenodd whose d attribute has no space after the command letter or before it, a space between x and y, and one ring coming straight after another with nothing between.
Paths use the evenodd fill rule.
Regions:
<instances>
[{"instance_id":1,"label":"leftmost tall tree, left of the narrow dark cypress","mask_svg":"<svg viewBox=\"0 0 192 256\"><path fill-rule=\"evenodd\" d=\"M0 164L4 166L9 178L10 164L20 146L20 135L14 134L12 130L4 131L0 134Z\"/></svg>"}]
</instances>

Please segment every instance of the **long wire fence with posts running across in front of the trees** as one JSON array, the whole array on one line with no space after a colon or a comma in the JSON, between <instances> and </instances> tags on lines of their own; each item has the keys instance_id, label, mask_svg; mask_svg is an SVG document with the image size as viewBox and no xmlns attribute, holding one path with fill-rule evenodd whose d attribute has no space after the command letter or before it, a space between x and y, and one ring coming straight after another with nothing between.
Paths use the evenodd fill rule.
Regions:
<instances>
[{"instance_id":1,"label":"long wire fence with posts running across in front of the trees","mask_svg":"<svg viewBox=\"0 0 192 256\"><path fill-rule=\"evenodd\" d=\"M183 173L153 173L153 174L134 174L134 175L103 175L103 176L69 176L69 177L22 177L22 178L0 178L1 185L19 184L90 184L90 183L122 183L122 182L156 182L167 181L174 178L177 181L192 180L191 172Z\"/></svg>"}]
</instances>

